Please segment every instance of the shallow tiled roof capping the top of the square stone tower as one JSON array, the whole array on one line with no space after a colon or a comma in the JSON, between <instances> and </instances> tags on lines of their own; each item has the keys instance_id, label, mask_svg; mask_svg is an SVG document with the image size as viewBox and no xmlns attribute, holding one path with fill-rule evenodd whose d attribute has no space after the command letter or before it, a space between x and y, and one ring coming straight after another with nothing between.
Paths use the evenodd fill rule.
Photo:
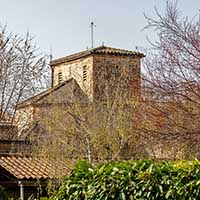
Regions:
<instances>
[{"instance_id":1,"label":"shallow tiled roof capping the top of the square stone tower","mask_svg":"<svg viewBox=\"0 0 200 200\"><path fill-rule=\"evenodd\" d=\"M144 57L145 55L140 52L136 51L130 51L130 50L125 50L125 49L117 49L117 48L112 48L112 47L107 47L107 46L99 46L96 48L88 49L85 51L81 51L79 53L75 53L69 56L65 56L56 60L52 60L50 62L50 65L53 67L54 65L61 64L64 62L76 60L85 56L89 56L92 54L111 54L111 55L121 55L121 56L138 56L138 57Z\"/></svg>"}]
</instances>

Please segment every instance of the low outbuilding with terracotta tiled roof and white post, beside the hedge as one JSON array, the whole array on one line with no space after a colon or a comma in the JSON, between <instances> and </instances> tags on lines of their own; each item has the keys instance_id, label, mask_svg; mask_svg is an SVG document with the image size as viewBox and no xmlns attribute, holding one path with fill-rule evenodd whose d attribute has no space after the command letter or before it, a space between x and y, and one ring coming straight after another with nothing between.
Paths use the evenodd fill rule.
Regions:
<instances>
[{"instance_id":1,"label":"low outbuilding with terracotta tiled roof and white post, beside the hedge","mask_svg":"<svg viewBox=\"0 0 200 200\"><path fill-rule=\"evenodd\" d=\"M25 200L31 195L47 195L47 183L67 175L64 162L53 162L30 156L6 155L0 157L0 186L8 197Z\"/></svg>"}]
</instances>

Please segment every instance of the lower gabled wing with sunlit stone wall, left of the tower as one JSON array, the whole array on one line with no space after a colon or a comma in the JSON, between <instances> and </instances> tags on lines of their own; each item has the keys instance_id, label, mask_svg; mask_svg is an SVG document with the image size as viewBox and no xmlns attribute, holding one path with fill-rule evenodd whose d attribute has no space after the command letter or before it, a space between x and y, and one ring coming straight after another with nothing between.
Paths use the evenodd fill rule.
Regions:
<instances>
[{"instance_id":1,"label":"lower gabled wing with sunlit stone wall, left of the tower","mask_svg":"<svg viewBox=\"0 0 200 200\"><path fill-rule=\"evenodd\" d=\"M21 137L24 130L30 130L30 125L41 121L44 116L52 118L51 114L53 111L55 113L55 108L64 107L67 109L72 104L79 102L84 105L87 101L87 95L73 78L32 97L17 107L18 136Z\"/></svg>"}]
</instances>

